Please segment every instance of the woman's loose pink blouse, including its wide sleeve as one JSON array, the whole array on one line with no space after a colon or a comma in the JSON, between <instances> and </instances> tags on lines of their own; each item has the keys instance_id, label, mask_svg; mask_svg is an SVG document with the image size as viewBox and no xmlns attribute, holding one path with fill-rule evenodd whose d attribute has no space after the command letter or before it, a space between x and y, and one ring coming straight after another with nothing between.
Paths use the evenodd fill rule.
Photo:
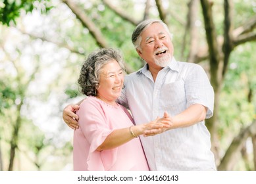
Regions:
<instances>
[{"instance_id":1,"label":"woman's loose pink blouse, including its wide sleeve","mask_svg":"<svg viewBox=\"0 0 256 184\"><path fill-rule=\"evenodd\" d=\"M115 149L95 150L114 129L133 125L132 116L124 106L115 107L88 97L77 114L80 128L74 131L74 170L149 170L140 139L132 139Z\"/></svg>"}]
</instances>

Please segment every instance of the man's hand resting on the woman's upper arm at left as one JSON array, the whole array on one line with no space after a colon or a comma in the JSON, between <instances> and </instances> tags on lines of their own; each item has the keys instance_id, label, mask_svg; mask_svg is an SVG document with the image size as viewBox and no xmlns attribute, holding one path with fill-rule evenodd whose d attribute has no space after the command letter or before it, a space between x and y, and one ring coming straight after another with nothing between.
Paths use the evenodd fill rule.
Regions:
<instances>
[{"instance_id":1,"label":"man's hand resting on the woman's upper arm at left","mask_svg":"<svg viewBox=\"0 0 256 184\"><path fill-rule=\"evenodd\" d=\"M78 129L78 115L76 115L76 110L79 109L78 104L69 104L63 110L63 120L72 129Z\"/></svg>"}]
</instances>

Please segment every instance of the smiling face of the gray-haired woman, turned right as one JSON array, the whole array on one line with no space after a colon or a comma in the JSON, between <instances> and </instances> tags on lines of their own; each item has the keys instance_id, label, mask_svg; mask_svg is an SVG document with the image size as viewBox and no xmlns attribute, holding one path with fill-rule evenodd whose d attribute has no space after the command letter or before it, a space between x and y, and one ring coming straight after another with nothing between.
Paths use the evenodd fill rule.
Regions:
<instances>
[{"instance_id":1,"label":"smiling face of the gray-haired woman, turned right","mask_svg":"<svg viewBox=\"0 0 256 184\"><path fill-rule=\"evenodd\" d=\"M122 92L124 72L116 60L112 60L101 68L97 97L103 101L113 102Z\"/></svg>"}]
</instances>

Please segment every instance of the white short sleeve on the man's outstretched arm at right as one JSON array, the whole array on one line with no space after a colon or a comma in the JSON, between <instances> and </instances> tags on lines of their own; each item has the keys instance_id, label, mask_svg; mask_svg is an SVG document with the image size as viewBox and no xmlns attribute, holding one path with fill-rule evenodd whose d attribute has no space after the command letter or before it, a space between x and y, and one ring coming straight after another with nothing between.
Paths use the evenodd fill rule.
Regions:
<instances>
[{"instance_id":1,"label":"white short sleeve on the man's outstretched arm at right","mask_svg":"<svg viewBox=\"0 0 256 184\"><path fill-rule=\"evenodd\" d=\"M195 64L192 70L188 70L185 80L187 107L192 104L202 104L207 107L206 118L213 116L214 109L214 91L205 70Z\"/></svg>"}]
</instances>

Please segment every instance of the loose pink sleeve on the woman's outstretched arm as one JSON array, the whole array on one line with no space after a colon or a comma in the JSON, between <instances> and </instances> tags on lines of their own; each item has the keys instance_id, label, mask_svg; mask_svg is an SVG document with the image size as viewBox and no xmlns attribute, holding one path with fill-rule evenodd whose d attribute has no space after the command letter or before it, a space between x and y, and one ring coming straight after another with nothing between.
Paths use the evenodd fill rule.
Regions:
<instances>
[{"instance_id":1,"label":"loose pink sleeve on the woman's outstretched arm","mask_svg":"<svg viewBox=\"0 0 256 184\"><path fill-rule=\"evenodd\" d=\"M99 103L88 99L80 105L78 116L82 133L90 143L87 159L88 170L109 170L116 162L118 148L96 150L113 131L103 108Z\"/></svg>"}]
</instances>

